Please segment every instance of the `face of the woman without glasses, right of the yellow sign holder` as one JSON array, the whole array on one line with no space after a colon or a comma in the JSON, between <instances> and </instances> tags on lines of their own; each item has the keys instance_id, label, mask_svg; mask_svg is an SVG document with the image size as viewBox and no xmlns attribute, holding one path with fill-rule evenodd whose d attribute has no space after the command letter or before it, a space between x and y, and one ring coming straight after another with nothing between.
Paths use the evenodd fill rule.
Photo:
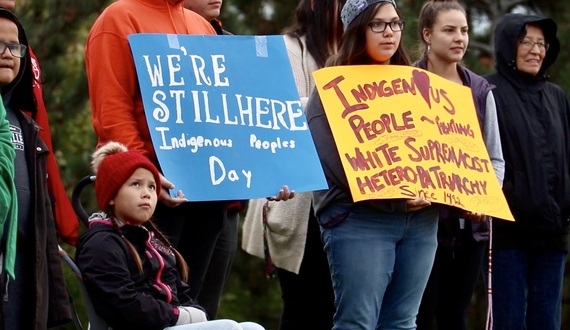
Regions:
<instances>
[{"instance_id":1,"label":"face of the woman without glasses, right of the yellow sign holder","mask_svg":"<svg viewBox=\"0 0 570 330\"><path fill-rule=\"evenodd\" d=\"M424 29L424 38L431 44L430 56L448 62L461 61L469 45L467 18L460 10L440 11L432 31Z\"/></svg>"}]
</instances>

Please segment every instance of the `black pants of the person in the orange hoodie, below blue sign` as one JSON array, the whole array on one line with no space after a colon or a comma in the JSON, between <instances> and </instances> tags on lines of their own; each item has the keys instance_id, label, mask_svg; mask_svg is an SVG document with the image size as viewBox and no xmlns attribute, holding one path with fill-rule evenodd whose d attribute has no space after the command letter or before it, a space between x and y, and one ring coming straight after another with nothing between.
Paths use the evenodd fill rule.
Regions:
<instances>
[{"instance_id":1,"label":"black pants of the person in the orange hoodie, below blue sign","mask_svg":"<svg viewBox=\"0 0 570 330\"><path fill-rule=\"evenodd\" d=\"M155 223L186 260L190 295L198 298L214 247L226 220L225 201L188 202L176 207L158 203Z\"/></svg>"}]
</instances>

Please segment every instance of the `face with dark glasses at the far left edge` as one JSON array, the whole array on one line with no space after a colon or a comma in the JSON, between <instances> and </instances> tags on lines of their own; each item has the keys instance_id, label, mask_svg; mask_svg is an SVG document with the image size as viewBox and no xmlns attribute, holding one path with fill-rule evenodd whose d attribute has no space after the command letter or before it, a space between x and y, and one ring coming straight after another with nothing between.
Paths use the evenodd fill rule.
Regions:
<instances>
[{"instance_id":1,"label":"face with dark glasses at the far left edge","mask_svg":"<svg viewBox=\"0 0 570 330\"><path fill-rule=\"evenodd\" d=\"M19 44L18 26L11 20L0 17L0 41L9 44ZM4 47L5 45L0 45ZM11 83L20 71L20 59L10 53L6 46L4 52L0 54L0 87Z\"/></svg>"}]
</instances>

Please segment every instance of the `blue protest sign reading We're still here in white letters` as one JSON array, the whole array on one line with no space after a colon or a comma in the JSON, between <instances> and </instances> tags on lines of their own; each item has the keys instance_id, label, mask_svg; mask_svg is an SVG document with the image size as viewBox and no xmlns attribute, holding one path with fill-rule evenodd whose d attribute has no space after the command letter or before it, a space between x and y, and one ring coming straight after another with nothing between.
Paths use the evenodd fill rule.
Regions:
<instances>
[{"instance_id":1,"label":"blue protest sign reading We're still here in white letters","mask_svg":"<svg viewBox=\"0 0 570 330\"><path fill-rule=\"evenodd\" d=\"M282 36L129 43L163 174L188 200L327 188Z\"/></svg>"}]
</instances>

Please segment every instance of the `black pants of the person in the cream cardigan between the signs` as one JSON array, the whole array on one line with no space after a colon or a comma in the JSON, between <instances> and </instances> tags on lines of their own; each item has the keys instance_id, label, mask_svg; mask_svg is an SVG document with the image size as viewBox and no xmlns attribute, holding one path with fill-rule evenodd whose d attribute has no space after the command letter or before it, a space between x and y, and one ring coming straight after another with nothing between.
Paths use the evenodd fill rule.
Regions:
<instances>
[{"instance_id":1,"label":"black pants of the person in the cream cardigan between the signs","mask_svg":"<svg viewBox=\"0 0 570 330\"><path fill-rule=\"evenodd\" d=\"M312 210L310 214L299 274L277 269L283 299L280 330L330 330L333 326L335 307L331 275L319 224Z\"/></svg>"}]
</instances>

